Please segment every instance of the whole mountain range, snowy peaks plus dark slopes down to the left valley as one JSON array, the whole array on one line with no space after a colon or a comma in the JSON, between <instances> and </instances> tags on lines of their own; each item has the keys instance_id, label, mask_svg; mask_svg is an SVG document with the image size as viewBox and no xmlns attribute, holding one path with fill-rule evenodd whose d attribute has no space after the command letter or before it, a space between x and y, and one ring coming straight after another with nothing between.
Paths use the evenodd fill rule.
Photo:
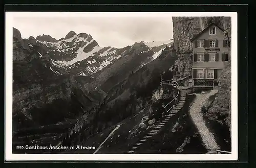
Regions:
<instances>
[{"instance_id":1,"label":"whole mountain range, snowy peaks plus dark slopes down to the left valley","mask_svg":"<svg viewBox=\"0 0 256 168\"><path fill-rule=\"evenodd\" d=\"M173 40L142 41L116 49L100 47L86 33L71 31L59 40L49 35L23 39L13 28L13 116L19 120L18 127L54 124L87 111L102 102L117 84L158 58L172 44ZM56 101L66 102L67 108L61 112L61 104L56 105ZM70 102L82 104L79 112L69 110L73 106ZM68 116L65 114L54 122L44 122L41 115L45 116L51 108L61 116L62 113ZM45 112L38 114L39 109Z\"/></svg>"}]
</instances>

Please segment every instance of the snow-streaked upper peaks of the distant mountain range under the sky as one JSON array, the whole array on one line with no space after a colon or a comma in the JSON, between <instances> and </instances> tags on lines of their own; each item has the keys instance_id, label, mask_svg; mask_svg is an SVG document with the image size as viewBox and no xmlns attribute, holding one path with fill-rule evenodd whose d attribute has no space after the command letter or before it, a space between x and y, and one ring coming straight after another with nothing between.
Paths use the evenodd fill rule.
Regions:
<instances>
[{"instance_id":1,"label":"snow-streaked upper peaks of the distant mountain range under the sky","mask_svg":"<svg viewBox=\"0 0 256 168\"><path fill-rule=\"evenodd\" d=\"M30 36L29 39L24 39L24 42L31 50L34 46L40 46L44 50L37 53L38 57L49 56L54 73L87 76L130 55L139 56L140 62L136 66L143 66L156 59L166 45L172 45L173 40L142 41L136 42L132 46L116 49L111 46L100 47L90 34L76 34L74 31L70 31L65 38L59 40L49 35L42 35L36 38Z\"/></svg>"}]
</instances>

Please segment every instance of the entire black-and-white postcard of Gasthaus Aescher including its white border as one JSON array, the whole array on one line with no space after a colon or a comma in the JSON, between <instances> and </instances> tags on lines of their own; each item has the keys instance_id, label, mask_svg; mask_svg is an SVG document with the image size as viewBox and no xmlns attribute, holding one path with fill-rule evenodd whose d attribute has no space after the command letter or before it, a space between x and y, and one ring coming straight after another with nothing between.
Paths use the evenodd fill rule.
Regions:
<instances>
[{"instance_id":1,"label":"entire black-and-white postcard of Gasthaus Aescher including its white border","mask_svg":"<svg viewBox=\"0 0 256 168\"><path fill-rule=\"evenodd\" d=\"M235 12L6 18L10 160L237 159Z\"/></svg>"}]
</instances>

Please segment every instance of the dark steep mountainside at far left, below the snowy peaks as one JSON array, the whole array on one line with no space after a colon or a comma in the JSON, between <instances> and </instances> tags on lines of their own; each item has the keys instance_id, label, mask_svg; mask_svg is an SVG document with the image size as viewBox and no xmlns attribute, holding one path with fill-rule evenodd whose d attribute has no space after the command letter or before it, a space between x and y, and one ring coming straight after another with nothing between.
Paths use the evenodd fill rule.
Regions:
<instances>
[{"instance_id":1,"label":"dark steep mountainside at far left, below the snowy peaks","mask_svg":"<svg viewBox=\"0 0 256 168\"><path fill-rule=\"evenodd\" d=\"M14 130L75 118L103 100L103 93L90 93L83 87L92 78L62 74L52 64L46 47L33 41L32 37L23 40L13 29Z\"/></svg>"}]
</instances>

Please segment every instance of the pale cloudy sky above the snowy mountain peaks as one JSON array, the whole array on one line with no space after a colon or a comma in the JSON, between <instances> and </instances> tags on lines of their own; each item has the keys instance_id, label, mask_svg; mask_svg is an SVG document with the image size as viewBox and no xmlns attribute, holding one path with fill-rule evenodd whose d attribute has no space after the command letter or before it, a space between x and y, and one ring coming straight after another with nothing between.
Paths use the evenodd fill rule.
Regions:
<instances>
[{"instance_id":1,"label":"pale cloudy sky above the snowy mountain peaks","mask_svg":"<svg viewBox=\"0 0 256 168\"><path fill-rule=\"evenodd\" d=\"M22 38L45 34L57 40L70 31L87 33L101 47L125 47L135 42L173 38L172 16L154 17L14 17L13 27Z\"/></svg>"}]
</instances>

